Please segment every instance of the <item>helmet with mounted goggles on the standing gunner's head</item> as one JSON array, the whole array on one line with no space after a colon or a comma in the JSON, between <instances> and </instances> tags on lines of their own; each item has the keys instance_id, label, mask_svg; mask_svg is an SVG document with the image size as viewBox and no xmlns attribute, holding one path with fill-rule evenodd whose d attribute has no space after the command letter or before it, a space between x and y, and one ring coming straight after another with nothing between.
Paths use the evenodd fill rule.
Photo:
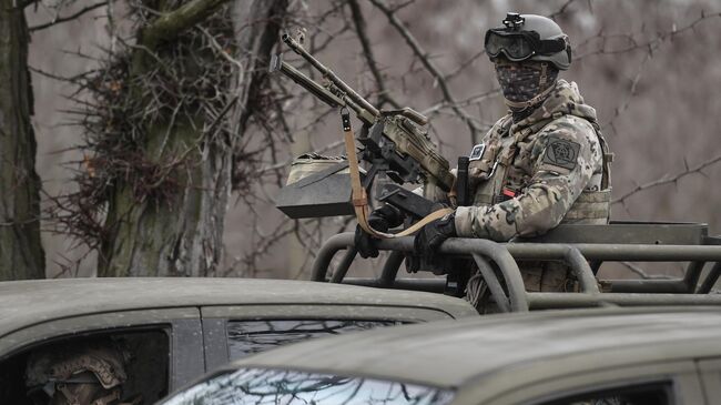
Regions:
<instances>
[{"instance_id":1,"label":"helmet with mounted goggles on the standing gunner's head","mask_svg":"<svg viewBox=\"0 0 721 405\"><path fill-rule=\"evenodd\" d=\"M571 45L568 36L551 19L536 14L509 12L504 27L486 31L484 45L494 60L501 53L514 62L547 61L559 70L571 64Z\"/></svg>"}]
</instances>

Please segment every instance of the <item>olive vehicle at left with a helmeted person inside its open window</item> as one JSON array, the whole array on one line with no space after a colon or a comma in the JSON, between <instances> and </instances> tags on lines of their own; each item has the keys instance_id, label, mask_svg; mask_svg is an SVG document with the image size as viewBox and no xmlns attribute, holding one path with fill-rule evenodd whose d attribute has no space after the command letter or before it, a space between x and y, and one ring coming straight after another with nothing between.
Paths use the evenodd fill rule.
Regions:
<instances>
[{"instance_id":1,"label":"olive vehicle at left with a helmeted person inside its open window","mask_svg":"<svg viewBox=\"0 0 721 405\"><path fill-rule=\"evenodd\" d=\"M33 404L30 392L52 395L69 385L59 377L63 371L70 374L64 377L77 379L73 375L80 369L70 368L77 363L99 374L105 371L118 378L115 383L122 381L123 397L136 394L140 403L150 404L229 361L288 343L476 315L463 300L438 294L301 281L3 282L0 403ZM82 352L98 342L123 346L123 355L132 357L124 369L97 351L62 357L63 352ZM62 361L38 358L40 354Z\"/></svg>"}]
</instances>

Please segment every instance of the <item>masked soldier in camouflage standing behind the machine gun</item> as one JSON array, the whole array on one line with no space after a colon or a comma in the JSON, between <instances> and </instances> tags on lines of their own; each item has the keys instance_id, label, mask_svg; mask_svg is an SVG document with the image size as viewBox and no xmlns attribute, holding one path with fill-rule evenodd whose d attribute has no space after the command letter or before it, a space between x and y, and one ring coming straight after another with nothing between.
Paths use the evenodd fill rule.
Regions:
<instances>
[{"instance_id":1,"label":"masked soldier in camouflage standing behind the machine gun","mask_svg":"<svg viewBox=\"0 0 721 405\"><path fill-rule=\"evenodd\" d=\"M576 83L558 79L571 62L568 37L541 16L508 13L502 23L486 32L485 47L509 112L470 152L474 204L456 207L416 235L415 253L427 262L448 237L509 241L560 223L608 222L610 154L596 111L583 103ZM402 221L388 205L369 217L380 231ZM356 247L362 256L377 255L362 230ZM521 269L528 291L569 286L563 265Z\"/></svg>"}]
</instances>

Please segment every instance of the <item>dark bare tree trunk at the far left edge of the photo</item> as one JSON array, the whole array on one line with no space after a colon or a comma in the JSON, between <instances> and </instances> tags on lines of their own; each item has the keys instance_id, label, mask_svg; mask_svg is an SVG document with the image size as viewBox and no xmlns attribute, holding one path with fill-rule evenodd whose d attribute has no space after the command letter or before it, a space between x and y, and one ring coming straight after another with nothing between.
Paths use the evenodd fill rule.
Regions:
<instances>
[{"instance_id":1,"label":"dark bare tree trunk at the far left edge of the photo","mask_svg":"<svg viewBox=\"0 0 721 405\"><path fill-rule=\"evenodd\" d=\"M29 40L23 10L0 0L0 281L45 275Z\"/></svg>"}]
</instances>

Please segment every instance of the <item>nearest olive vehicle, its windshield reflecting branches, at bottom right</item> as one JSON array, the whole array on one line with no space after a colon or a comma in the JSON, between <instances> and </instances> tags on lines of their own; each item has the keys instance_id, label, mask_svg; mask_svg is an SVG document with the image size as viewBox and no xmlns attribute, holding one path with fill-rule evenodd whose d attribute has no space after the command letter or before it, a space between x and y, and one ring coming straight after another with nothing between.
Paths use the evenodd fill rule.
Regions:
<instances>
[{"instance_id":1,"label":"nearest olive vehicle, its windshield reflecting branches, at bottom right","mask_svg":"<svg viewBox=\"0 0 721 405\"><path fill-rule=\"evenodd\" d=\"M283 347L162 404L711 405L719 338L715 307L489 315Z\"/></svg>"}]
</instances>

